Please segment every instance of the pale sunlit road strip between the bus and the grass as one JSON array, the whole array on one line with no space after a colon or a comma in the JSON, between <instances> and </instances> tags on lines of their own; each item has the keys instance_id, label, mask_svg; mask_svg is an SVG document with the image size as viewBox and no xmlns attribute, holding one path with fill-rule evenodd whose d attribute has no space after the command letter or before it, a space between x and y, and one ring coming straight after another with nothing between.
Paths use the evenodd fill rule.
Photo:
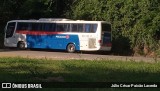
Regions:
<instances>
[{"instance_id":1,"label":"pale sunlit road strip between the bus and the grass","mask_svg":"<svg viewBox=\"0 0 160 91\"><path fill-rule=\"evenodd\" d=\"M25 57L25 58L47 58L58 60L84 59L84 60L122 60L122 61L145 61L156 62L160 58L148 57L130 57L130 56L114 56L93 53L66 53L64 51L46 51L46 50L16 50L16 49L0 49L0 57Z\"/></svg>"}]
</instances>

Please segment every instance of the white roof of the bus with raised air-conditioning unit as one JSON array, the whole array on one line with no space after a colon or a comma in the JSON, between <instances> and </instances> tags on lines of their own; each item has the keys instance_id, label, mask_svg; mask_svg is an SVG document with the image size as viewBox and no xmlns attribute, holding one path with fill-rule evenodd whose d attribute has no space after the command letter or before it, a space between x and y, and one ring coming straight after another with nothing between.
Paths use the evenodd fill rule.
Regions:
<instances>
[{"instance_id":1,"label":"white roof of the bus with raised air-conditioning unit","mask_svg":"<svg viewBox=\"0 0 160 91\"><path fill-rule=\"evenodd\" d=\"M9 22L37 22L37 23L109 23L107 21L71 20L65 18L40 18L39 20L11 20Z\"/></svg>"}]
</instances>

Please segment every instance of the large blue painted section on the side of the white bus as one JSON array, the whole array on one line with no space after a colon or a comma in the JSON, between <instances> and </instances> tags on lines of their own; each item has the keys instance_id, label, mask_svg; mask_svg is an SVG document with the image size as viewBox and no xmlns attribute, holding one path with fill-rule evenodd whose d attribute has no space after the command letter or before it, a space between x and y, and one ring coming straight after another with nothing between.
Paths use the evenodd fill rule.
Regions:
<instances>
[{"instance_id":1,"label":"large blue painted section on the side of the white bus","mask_svg":"<svg viewBox=\"0 0 160 91\"><path fill-rule=\"evenodd\" d=\"M74 43L76 50L80 50L78 35L54 34L54 35L29 35L27 34L27 48L63 49L69 43Z\"/></svg>"}]
</instances>

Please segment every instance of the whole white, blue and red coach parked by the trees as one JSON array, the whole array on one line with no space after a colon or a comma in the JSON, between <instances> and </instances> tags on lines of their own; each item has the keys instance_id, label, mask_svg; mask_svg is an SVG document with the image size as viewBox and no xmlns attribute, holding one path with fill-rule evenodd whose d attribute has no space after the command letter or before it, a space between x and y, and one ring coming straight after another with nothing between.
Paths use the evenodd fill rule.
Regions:
<instances>
[{"instance_id":1,"label":"whole white, blue and red coach parked by the trees","mask_svg":"<svg viewBox=\"0 0 160 91\"><path fill-rule=\"evenodd\" d=\"M5 47L75 51L110 51L111 24L106 21L41 18L11 20L5 27Z\"/></svg>"}]
</instances>

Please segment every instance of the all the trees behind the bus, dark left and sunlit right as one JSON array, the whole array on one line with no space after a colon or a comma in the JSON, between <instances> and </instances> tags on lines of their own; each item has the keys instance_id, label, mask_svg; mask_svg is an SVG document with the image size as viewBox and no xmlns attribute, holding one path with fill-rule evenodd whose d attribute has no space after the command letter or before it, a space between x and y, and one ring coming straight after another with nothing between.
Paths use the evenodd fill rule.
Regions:
<instances>
[{"instance_id":1,"label":"all the trees behind the bus, dark left and sunlit right","mask_svg":"<svg viewBox=\"0 0 160 91\"><path fill-rule=\"evenodd\" d=\"M3 25L12 19L65 17L105 20L112 24L114 53L160 55L159 0L1 0L0 2L0 22L3 23L0 25L3 27L0 41L3 40Z\"/></svg>"}]
</instances>

